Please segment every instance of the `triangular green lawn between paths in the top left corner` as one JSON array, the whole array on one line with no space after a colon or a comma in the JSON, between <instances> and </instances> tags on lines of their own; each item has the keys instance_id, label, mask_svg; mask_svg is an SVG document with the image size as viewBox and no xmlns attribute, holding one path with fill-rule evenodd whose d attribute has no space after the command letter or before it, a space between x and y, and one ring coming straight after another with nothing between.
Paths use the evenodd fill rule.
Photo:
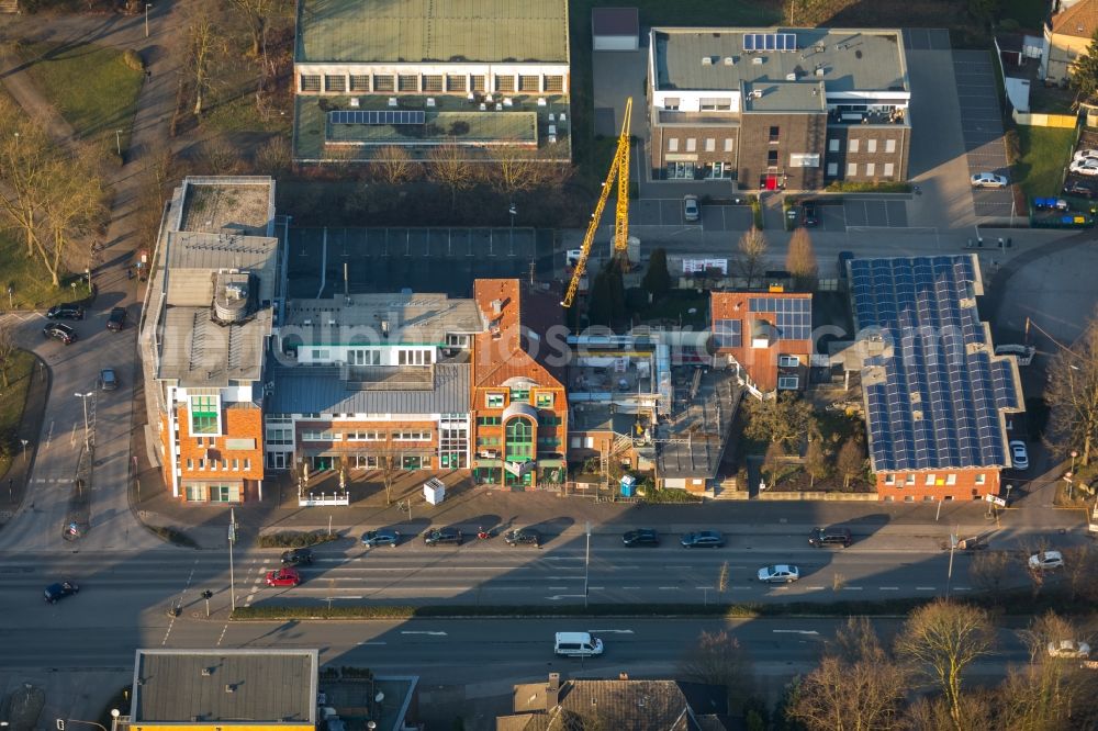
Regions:
<instances>
[{"instance_id":1,"label":"triangular green lawn between paths in the top left corner","mask_svg":"<svg viewBox=\"0 0 1098 731\"><path fill-rule=\"evenodd\" d=\"M127 67L122 52L90 44L30 44L22 54L31 64L31 78L77 135L102 140L104 148L116 153L121 130L125 153L143 71Z\"/></svg>"}]
</instances>

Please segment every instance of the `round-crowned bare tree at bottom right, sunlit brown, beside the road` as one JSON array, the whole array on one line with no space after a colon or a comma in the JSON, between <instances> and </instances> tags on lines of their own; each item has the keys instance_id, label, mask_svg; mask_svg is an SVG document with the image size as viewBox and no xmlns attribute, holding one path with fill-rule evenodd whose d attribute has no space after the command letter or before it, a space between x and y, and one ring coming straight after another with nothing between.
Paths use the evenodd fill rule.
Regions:
<instances>
[{"instance_id":1,"label":"round-crowned bare tree at bottom right, sunlit brown, beside the road","mask_svg":"<svg viewBox=\"0 0 1098 731\"><path fill-rule=\"evenodd\" d=\"M937 599L912 611L896 642L897 655L937 682L956 731L966 731L961 684L968 665L991 651L995 633L978 607Z\"/></svg>"}]
</instances>

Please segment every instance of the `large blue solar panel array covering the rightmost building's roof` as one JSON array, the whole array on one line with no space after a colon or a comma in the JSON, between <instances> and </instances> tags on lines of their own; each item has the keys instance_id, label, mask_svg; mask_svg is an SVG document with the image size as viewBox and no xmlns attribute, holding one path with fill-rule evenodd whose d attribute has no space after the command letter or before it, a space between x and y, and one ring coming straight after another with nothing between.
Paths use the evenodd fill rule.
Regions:
<instances>
[{"instance_id":1,"label":"large blue solar panel array covering the rightmost building's roof","mask_svg":"<svg viewBox=\"0 0 1098 731\"><path fill-rule=\"evenodd\" d=\"M1006 465L1000 411L1020 408L1021 398L1011 363L989 355L972 258L850 267L858 328L881 328L893 346L866 363L884 368L865 385L874 470Z\"/></svg>"}]
</instances>

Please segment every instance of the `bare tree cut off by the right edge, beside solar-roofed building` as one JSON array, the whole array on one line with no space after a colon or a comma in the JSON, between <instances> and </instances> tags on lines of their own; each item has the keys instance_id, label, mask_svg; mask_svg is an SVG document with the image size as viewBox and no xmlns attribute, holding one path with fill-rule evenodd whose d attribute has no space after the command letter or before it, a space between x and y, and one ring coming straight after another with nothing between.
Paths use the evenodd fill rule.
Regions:
<instances>
[{"instance_id":1,"label":"bare tree cut off by the right edge, beside solar-roofed building","mask_svg":"<svg viewBox=\"0 0 1098 731\"><path fill-rule=\"evenodd\" d=\"M1083 466L1098 445L1098 312L1071 348L1049 364L1049 441L1061 453L1078 450Z\"/></svg>"}]
</instances>

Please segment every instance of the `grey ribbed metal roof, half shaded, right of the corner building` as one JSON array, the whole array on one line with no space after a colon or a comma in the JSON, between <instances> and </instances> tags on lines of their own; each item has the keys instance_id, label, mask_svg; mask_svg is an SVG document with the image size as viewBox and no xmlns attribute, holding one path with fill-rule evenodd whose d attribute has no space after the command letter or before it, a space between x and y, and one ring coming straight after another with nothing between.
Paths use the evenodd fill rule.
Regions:
<instances>
[{"instance_id":1,"label":"grey ribbed metal roof, half shaded, right of the corner building","mask_svg":"<svg viewBox=\"0 0 1098 731\"><path fill-rule=\"evenodd\" d=\"M276 368L268 414L467 414L469 363L438 363L433 384L424 387L373 389L350 369ZM395 370L395 369L394 369ZM428 369L423 369L424 371Z\"/></svg>"}]
</instances>

